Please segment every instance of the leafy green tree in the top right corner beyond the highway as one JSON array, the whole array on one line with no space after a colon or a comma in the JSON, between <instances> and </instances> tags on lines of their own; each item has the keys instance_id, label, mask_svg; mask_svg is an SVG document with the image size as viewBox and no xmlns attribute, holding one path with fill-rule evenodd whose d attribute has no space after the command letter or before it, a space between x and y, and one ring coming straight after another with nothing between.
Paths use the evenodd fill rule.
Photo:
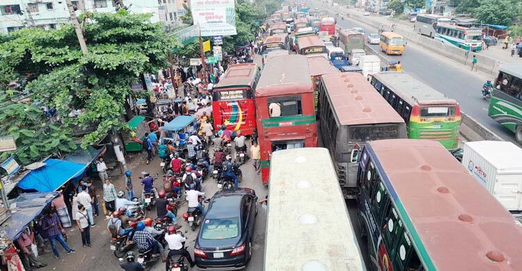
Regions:
<instances>
[{"instance_id":1,"label":"leafy green tree in the top right corner beyond the highway","mask_svg":"<svg viewBox=\"0 0 522 271\"><path fill-rule=\"evenodd\" d=\"M480 6L473 9L473 17L483 24L509 26L516 17L516 9L509 0L480 0Z\"/></svg>"}]
</instances>

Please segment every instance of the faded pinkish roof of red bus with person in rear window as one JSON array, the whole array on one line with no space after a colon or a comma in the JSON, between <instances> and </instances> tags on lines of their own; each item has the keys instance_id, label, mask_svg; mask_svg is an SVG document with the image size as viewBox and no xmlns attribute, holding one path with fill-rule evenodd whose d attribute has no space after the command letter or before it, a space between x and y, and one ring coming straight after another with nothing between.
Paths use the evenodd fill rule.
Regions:
<instances>
[{"instance_id":1,"label":"faded pinkish roof of red bus with person in rear window","mask_svg":"<svg viewBox=\"0 0 522 271\"><path fill-rule=\"evenodd\" d=\"M264 65L258 87L255 89L255 97L306 92L313 92L306 56L273 56Z\"/></svg>"}]
</instances>

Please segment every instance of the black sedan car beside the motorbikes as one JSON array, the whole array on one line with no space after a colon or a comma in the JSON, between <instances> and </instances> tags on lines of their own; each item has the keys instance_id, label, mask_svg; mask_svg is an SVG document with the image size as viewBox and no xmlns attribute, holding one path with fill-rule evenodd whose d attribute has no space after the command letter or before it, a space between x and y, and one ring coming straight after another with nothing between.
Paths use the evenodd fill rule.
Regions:
<instances>
[{"instance_id":1,"label":"black sedan car beside the motorbikes","mask_svg":"<svg viewBox=\"0 0 522 271\"><path fill-rule=\"evenodd\" d=\"M240 270L252 256L258 197L249 188L216 192L196 238L194 258L202 270Z\"/></svg>"}]
</instances>

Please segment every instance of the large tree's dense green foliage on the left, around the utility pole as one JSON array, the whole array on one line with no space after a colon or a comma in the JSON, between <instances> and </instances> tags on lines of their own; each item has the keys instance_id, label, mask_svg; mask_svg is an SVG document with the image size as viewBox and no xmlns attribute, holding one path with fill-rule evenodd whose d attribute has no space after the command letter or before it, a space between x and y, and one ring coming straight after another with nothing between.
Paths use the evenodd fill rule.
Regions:
<instances>
[{"instance_id":1,"label":"large tree's dense green foliage on the left, around the utility pole","mask_svg":"<svg viewBox=\"0 0 522 271\"><path fill-rule=\"evenodd\" d=\"M86 131L79 138L83 147L99 142L109 131L126 128L121 118L127 97L143 95L133 93L130 84L144 72L166 67L166 51L175 44L162 33L161 24L150 23L150 15L129 15L120 9L89 18L93 21L84 25L86 56L73 26L67 24L58 30L15 31L0 44L0 71L8 74L0 76L0 86L5 89L13 79L26 79L24 90L33 101L56 108L56 126ZM81 113L68 117L72 110Z\"/></svg>"}]
</instances>

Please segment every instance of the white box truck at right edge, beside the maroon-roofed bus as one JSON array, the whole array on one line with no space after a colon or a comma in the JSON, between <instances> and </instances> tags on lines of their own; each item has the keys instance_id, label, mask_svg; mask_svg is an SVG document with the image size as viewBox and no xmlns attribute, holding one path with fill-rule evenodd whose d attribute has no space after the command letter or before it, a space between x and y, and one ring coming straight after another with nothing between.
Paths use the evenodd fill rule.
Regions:
<instances>
[{"instance_id":1,"label":"white box truck at right edge, beside the maroon-roofed bus","mask_svg":"<svg viewBox=\"0 0 522 271\"><path fill-rule=\"evenodd\" d=\"M522 149L507 141L466 142L462 165L507 211L522 211ZM480 199L476 199L480 201Z\"/></svg>"}]
</instances>

